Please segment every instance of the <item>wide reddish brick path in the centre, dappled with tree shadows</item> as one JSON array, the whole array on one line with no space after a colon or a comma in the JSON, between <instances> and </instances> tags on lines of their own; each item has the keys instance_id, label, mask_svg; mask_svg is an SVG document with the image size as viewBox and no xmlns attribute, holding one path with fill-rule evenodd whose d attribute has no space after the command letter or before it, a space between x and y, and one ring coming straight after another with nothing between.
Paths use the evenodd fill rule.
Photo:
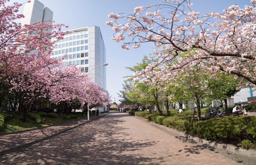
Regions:
<instances>
[{"instance_id":1,"label":"wide reddish brick path in the centre, dappled with tree shadows","mask_svg":"<svg viewBox=\"0 0 256 165\"><path fill-rule=\"evenodd\" d=\"M110 114L1 158L4 164L252 164L175 137L126 113ZM216 153L215 153L216 152Z\"/></svg>"}]
</instances>

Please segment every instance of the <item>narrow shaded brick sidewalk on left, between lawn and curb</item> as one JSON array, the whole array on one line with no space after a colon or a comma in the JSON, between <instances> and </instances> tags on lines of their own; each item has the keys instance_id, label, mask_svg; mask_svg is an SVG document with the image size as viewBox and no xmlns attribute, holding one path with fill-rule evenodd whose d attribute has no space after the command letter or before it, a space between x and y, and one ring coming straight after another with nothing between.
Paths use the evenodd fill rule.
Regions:
<instances>
[{"instance_id":1,"label":"narrow shaded brick sidewalk on left, between lawn and curb","mask_svg":"<svg viewBox=\"0 0 256 165\"><path fill-rule=\"evenodd\" d=\"M99 114L102 116L105 114ZM90 117L90 121L98 118L96 115ZM57 124L53 126L41 127L39 129L15 133L10 135L0 136L0 156L8 153L8 150L13 151L15 148L23 148L24 146L29 146L27 144L34 143L36 140L43 141L40 139L47 139L49 136L55 136L58 133L62 133L67 129L72 129L72 127L84 124L88 122L87 118L81 120L74 120L70 122L65 122L62 124ZM20 132L20 131L18 131Z\"/></svg>"}]
</instances>

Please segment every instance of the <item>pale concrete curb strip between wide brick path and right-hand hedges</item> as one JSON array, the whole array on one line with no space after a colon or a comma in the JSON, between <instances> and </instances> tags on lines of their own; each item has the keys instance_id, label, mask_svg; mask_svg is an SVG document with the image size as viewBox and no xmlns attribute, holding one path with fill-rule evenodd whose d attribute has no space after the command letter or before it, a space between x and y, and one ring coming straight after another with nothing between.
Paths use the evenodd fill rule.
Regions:
<instances>
[{"instance_id":1,"label":"pale concrete curb strip between wide brick path and right-hand hedges","mask_svg":"<svg viewBox=\"0 0 256 165\"><path fill-rule=\"evenodd\" d=\"M132 116L135 116L135 115L132 115ZM217 142L213 142L211 140L201 139L199 137L192 136L192 135L189 135L187 133L179 132L179 131L177 131L175 129L172 129L172 128L168 128L164 125L156 124L153 121L149 121L145 118L138 117L138 116L135 116L135 117L140 119L140 120L147 121L150 124L152 124L152 125L154 125L158 128L164 129L165 131L172 132L172 133L178 134L180 136L183 136L186 139L194 140L195 142L199 142L199 143L202 143L202 144L207 144L208 146L211 146L211 147L223 149L223 150L226 150L227 152L233 152L233 153L242 154L242 155L246 155L246 156L249 156L249 157L255 157L256 158L256 150L246 150L246 149L243 149L243 148L231 146L229 144L220 144L220 143L217 143Z\"/></svg>"}]
</instances>

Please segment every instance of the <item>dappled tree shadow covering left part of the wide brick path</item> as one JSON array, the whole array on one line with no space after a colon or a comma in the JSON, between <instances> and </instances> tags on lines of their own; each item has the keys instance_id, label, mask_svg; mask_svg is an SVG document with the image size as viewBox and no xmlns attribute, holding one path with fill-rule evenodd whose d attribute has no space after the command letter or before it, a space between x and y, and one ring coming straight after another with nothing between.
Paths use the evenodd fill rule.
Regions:
<instances>
[{"instance_id":1,"label":"dappled tree shadow covering left part of the wide brick path","mask_svg":"<svg viewBox=\"0 0 256 165\"><path fill-rule=\"evenodd\" d=\"M159 142L131 139L126 132L128 128L118 126L124 122L122 117L127 117L127 114L106 115L52 139L6 155L0 161L4 164L29 165L160 164L162 158L154 155L142 156L140 153L141 148L153 147Z\"/></svg>"}]
</instances>

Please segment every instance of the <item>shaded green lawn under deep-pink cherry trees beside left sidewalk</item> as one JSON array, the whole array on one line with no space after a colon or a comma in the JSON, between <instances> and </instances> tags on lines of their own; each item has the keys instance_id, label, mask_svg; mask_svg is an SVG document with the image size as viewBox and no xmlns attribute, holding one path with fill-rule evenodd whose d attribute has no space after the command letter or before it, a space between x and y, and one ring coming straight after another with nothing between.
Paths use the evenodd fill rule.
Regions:
<instances>
[{"instance_id":1,"label":"shaded green lawn under deep-pink cherry trees beside left sidewalk","mask_svg":"<svg viewBox=\"0 0 256 165\"><path fill-rule=\"evenodd\" d=\"M9 114L8 111L3 111L2 113ZM15 117L12 117L11 120L5 121L4 122L4 128L1 132L11 132L11 131L19 131L19 130L24 130L24 129L32 129L32 128L38 128L42 126L48 126L48 125L53 125L53 124L60 124L63 122L67 121L72 121L72 120L77 120L77 119L82 119L86 118L87 114L83 117L81 113L70 113L70 115L77 115L77 119L70 119L66 120L63 117L61 117L61 114L58 114L58 118L51 118L51 117L41 117L41 124L35 124L33 120L27 117L26 122L22 122L23 115L20 112L15 112ZM44 119L45 124L44 123Z\"/></svg>"}]
</instances>

